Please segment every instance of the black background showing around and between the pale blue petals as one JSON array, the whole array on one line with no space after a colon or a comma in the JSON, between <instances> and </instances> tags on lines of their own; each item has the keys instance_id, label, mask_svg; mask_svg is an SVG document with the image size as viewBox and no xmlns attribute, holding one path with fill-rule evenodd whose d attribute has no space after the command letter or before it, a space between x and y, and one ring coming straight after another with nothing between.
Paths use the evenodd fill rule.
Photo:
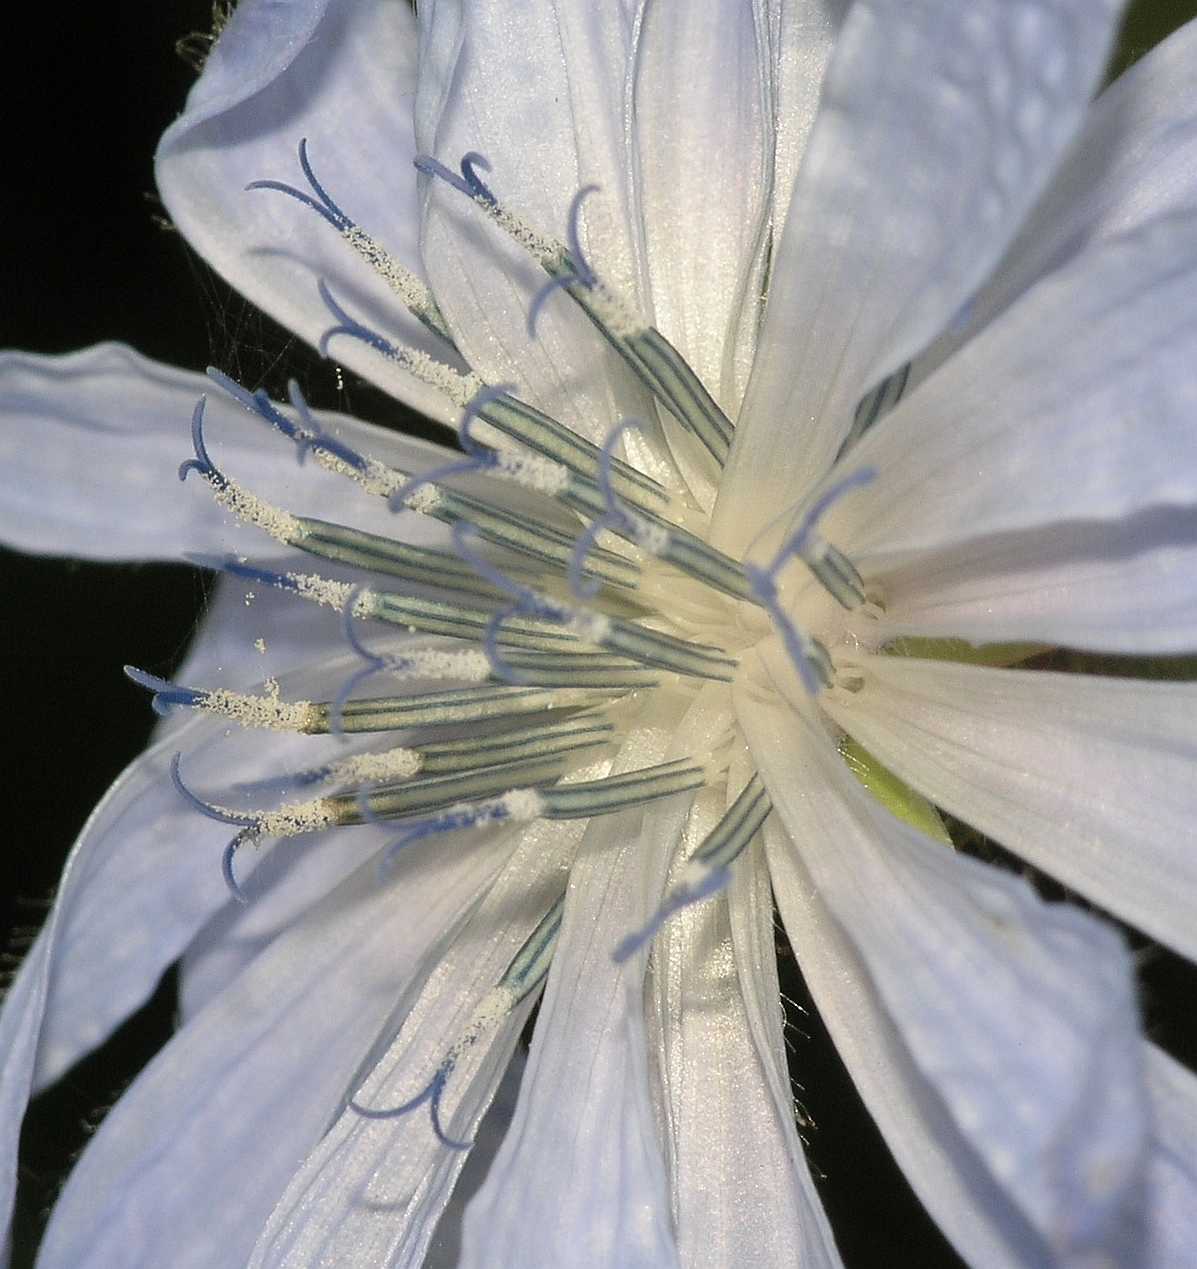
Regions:
<instances>
[{"instance_id":1,"label":"black background showing around and between the pale blue petals","mask_svg":"<svg viewBox=\"0 0 1197 1269\"><path fill-rule=\"evenodd\" d=\"M164 227L151 156L194 79L176 42L211 29L207 0L46 5L43 13L25 14L43 29L32 39L10 32L0 52L8 60L0 77L8 121L0 346L60 353L122 339L193 369L215 362L275 393L296 374L317 404L399 421L392 404L348 377L339 388L330 365L254 313ZM1123 60L1194 14L1189 0L1141 0ZM202 49L203 39L188 39L187 48ZM149 735L145 697L121 666L169 674L195 628L204 585L182 566L0 553L6 968L44 916L75 832ZM1193 972L1158 949L1147 949L1142 964L1153 1034L1197 1066L1187 1022ZM824 1174L848 1265L958 1264L890 1161L817 1018L801 1011L800 976L784 959L783 967L795 1076L816 1124L806 1133L811 1161ZM104 1107L169 1034L171 990L168 977L138 1018L30 1110L17 1265L30 1263L44 1209Z\"/></svg>"}]
</instances>

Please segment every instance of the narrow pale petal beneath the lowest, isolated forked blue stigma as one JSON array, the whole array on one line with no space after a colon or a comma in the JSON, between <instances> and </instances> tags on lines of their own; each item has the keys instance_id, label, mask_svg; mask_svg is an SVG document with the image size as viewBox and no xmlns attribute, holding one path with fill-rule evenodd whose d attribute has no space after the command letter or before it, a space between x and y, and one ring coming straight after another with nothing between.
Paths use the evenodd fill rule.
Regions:
<instances>
[{"instance_id":1,"label":"narrow pale petal beneath the lowest, isolated forked blue stigma","mask_svg":"<svg viewBox=\"0 0 1197 1269\"><path fill-rule=\"evenodd\" d=\"M429 977L413 983L402 1029L377 1065L367 1067L369 1074L353 1093L357 1104L401 1105L428 1086L467 1033L486 992L560 896L583 830L583 824L566 821L536 824L519 834L503 872ZM473 1138L534 999L462 1051L442 1108L451 1137ZM250 1263L254 1269L418 1266L467 1157L438 1141L427 1107L387 1119L345 1107L292 1178Z\"/></svg>"}]
</instances>

